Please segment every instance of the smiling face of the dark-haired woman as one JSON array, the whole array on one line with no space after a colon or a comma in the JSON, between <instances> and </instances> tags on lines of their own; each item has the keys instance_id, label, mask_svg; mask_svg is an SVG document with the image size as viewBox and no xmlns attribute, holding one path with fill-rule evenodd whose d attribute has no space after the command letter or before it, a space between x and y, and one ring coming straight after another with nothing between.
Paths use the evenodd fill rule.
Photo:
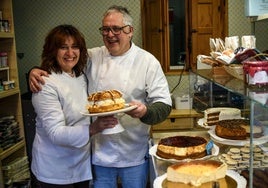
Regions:
<instances>
[{"instance_id":1,"label":"smiling face of the dark-haired woman","mask_svg":"<svg viewBox=\"0 0 268 188\"><path fill-rule=\"evenodd\" d=\"M72 73L72 69L78 63L79 57L79 47L74 43L73 37L68 37L57 53L57 61L61 70Z\"/></svg>"}]
</instances>

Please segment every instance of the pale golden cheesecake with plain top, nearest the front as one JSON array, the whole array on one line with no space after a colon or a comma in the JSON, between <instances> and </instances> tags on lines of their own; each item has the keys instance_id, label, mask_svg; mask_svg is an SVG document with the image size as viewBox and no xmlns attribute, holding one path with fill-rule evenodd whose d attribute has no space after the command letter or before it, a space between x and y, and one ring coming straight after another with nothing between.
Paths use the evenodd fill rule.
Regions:
<instances>
[{"instance_id":1,"label":"pale golden cheesecake with plain top, nearest the front","mask_svg":"<svg viewBox=\"0 0 268 188\"><path fill-rule=\"evenodd\" d=\"M227 165L215 160L182 162L167 168L167 181L200 186L226 176Z\"/></svg>"}]
</instances>

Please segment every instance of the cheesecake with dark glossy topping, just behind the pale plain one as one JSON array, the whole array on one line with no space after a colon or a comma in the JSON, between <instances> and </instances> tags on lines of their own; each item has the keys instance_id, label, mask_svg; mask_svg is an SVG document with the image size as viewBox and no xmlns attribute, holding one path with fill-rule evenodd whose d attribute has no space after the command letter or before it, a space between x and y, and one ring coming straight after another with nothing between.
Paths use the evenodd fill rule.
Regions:
<instances>
[{"instance_id":1,"label":"cheesecake with dark glossy topping, just behind the pale plain one","mask_svg":"<svg viewBox=\"0 0 268 188\"><path fill-rule=\"evenodd\" d=\"M165 159L182 160L206 156L207 140L199 136L173 136L160 139L156 154Z\"/></svg>"}]
</instances>

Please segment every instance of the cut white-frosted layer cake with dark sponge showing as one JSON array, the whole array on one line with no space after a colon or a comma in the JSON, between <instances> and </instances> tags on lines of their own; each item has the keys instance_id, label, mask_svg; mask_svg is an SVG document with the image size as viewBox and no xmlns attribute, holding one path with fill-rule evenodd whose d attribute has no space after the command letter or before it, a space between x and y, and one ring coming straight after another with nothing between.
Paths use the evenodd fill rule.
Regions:
<instances>
[{"instance_id":1,"label":"cut white-frosted layer cake with dark sponge showing","mask_svg":"<svg viewBox=\"0 0 268 188\"><path fill-rule=\"evenodd\" d=\"M204 111L204 125L212 126L220 120L241 119L241 110L238 108L208 108Z\"/></svg>"}]
</instances>

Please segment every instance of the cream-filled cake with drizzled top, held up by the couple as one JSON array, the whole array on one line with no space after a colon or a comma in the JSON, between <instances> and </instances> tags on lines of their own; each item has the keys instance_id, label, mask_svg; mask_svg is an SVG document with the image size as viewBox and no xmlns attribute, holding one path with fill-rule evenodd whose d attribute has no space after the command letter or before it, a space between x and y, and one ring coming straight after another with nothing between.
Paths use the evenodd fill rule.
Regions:
<instances>
[{"instance_id":1,"label":"cream-filled cake with drizzled top, held up by the couple","mask_svg":"<svg viewBox=\"0 0 268 188\"><path fill-rule=\"evenodd\" d=\"M125 107L122 93L117 90L95 92L88 97L89 113L101 113L119 110Z\"/></svg>"}]
</instances>

